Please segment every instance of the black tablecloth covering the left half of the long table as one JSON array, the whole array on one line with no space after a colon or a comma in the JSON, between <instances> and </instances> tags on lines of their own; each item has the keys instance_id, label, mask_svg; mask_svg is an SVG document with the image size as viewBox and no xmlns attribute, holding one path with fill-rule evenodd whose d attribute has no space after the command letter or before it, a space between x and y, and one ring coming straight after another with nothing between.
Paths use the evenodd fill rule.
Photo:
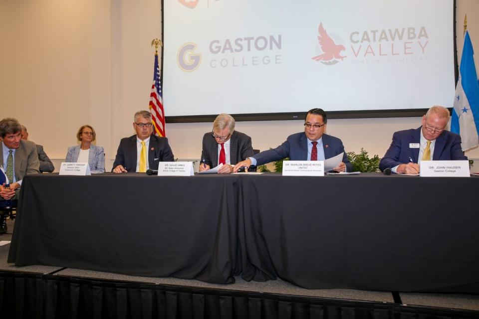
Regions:
<instances>
[{"instance_id":1,"label":"black tablecloth covering the left half of the long table","mask_svg":"<svg viewBox=\"0 0 479 319\"><path fill-rule=\"evenodd\" d=\"M9 262L232 283L238 178L27 175Z\"/></svg>"}]
</instances>

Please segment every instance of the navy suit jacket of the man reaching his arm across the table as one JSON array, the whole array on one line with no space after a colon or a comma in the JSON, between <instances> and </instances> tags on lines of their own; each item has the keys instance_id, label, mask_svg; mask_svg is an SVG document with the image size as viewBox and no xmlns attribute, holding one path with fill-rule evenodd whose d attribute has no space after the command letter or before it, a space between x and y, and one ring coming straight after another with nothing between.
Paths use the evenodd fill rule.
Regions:
<instances>
[{"instance_id":1,"label":"navy suit jacket of the man reaching his arm across the table","mask_svg":"<svg viewBox=\"0 0 479 319\"><path fill-rule=\"evenodd\" d=\"M341 140L335 138L334 136L323 134L322 141L324 158L330 159L344 152L343 162L346 165L346 171L352 171L353 166L348 160ZM304 132L290 135L286 141L277 148L263 151L253 156L253 158L257 161L257 165L269 163L270 161L274 160L282 160L287 157L289 157L290 160L308 159L308 138Z\"/></svg>"}]
</instances>

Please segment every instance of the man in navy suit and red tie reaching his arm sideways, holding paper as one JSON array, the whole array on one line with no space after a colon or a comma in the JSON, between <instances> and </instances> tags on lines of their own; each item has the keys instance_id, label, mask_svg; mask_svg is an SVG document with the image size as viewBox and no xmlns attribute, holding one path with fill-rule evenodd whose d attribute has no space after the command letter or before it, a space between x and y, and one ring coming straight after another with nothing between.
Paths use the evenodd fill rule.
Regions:
<instances>
[{"instance_id":1,"label":"man in navy suit and red tie reaching his arm sideways, holding paper","mask_svg":"<svg viewBox=\"0 0 479 319\"><path fill-rule=\"evenodd\" d=\"M351 171L352 165L344 151L340 139L324 134L326 113L322 109L312 109L306 114L304 132L288 136L286 141L273 150L263 151L235 165L234 171L241 166L262 165L274 160L289 157L290 160L325 160L343 153L343 160L335 171Z\"/></svg>"}]
</instances>

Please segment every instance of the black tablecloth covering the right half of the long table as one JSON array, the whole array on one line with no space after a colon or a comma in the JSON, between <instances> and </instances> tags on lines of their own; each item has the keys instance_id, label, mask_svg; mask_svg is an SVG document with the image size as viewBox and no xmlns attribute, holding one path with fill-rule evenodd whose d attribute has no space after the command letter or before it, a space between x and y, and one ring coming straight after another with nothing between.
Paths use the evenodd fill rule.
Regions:
<instances>
[{"instance_id":1,"label":"black tablecloth covering the right half of the long table","mask_svg":"<svg viewBox=\"0 0 479 319\"><path fill-rule=\"evenodd\" d=\"M242 177L246 280L479 293L479 178Z\"/></svg>"}]
</instances>

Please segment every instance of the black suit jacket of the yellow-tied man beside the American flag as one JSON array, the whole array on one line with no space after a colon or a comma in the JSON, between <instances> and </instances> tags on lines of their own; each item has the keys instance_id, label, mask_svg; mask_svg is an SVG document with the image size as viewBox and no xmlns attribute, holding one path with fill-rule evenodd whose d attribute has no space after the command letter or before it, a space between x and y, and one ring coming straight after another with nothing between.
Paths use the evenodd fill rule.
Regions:
<instances>
[{"instance_id":1,"label":"black suit jacket of the yellow-tied man beside the American flag","mask_svg":"<svg viewBox=\"0 0 479 319\"><path fill-rule=\"evenodd\" d=\"M121 139L113 168L121 164L127 171L136 171L136 153L136 135ZM150 136L150 146L148 150L150 169L158 169L158 163L160 161L175 161L175 157L173 156L167 138L152 135Z\"/></svg>"}]
</instances>

